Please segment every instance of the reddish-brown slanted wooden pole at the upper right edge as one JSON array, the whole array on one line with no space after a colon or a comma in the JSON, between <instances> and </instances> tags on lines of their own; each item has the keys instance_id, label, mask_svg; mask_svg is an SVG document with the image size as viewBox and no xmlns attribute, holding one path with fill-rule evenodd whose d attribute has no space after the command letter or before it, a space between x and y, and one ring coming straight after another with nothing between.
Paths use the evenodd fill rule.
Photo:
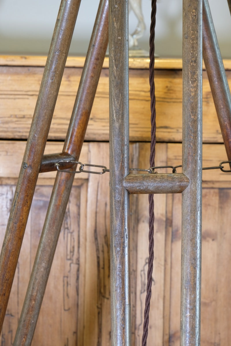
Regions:
<instances>
[{"instance_id":1,"label":"reddish-brown slanted wooden pole at the upper right edge","mask_svg":"<svg viewBox=\"0 0 231 346\"><path fill-rule=\"evenodd\" d=\"M228 160L231 160L231 95L210 7L203 0L203 57Z\"/></svg>"}]
</instances>

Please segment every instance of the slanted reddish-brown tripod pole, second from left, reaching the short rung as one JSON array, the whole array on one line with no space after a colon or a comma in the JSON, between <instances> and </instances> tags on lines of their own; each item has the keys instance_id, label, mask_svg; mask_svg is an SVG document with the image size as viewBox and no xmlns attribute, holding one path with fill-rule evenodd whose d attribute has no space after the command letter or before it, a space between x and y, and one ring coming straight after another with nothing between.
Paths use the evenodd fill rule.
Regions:
<instances>
[{"instance_id":1,"label":"slanted reddish-brown tripod pole, second from left, reaching the short rung","mask_svg":"<svg viewBox=\"0 0 231 346\"><path fill-rule=\"evenodd\" d=\"M101 0L63 151L79 159L108 44L108 0ZM69 200L74 174L57 172L14 345L30 345Z\"/></svg>"}]
</instances>

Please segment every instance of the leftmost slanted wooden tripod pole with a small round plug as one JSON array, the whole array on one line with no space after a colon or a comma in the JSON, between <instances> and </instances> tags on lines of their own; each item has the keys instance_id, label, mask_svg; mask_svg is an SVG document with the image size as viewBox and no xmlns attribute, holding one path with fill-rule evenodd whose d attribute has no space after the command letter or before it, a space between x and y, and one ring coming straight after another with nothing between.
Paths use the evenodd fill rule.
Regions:
<instances>
[{"instance_id":1,"label":"leftmost slanted wooden tripod pole with a small round plug","mask_svg":"<svg viewBox=\"0 0 231 346\"><path fill-rule=\"evenodd\" d=\"M61 1L0 256L0 331L80 0Z\"/></svg>"}]
</instances>

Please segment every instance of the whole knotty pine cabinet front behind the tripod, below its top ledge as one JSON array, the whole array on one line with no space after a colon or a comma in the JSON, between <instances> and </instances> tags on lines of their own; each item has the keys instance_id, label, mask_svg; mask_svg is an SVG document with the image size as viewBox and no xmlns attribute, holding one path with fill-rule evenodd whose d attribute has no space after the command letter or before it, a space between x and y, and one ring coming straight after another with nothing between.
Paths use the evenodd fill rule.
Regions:
<instances>
[{"instance_id":1,"label":"whole knotty pine cabinet front behind the tripod, below its top ledge","mask_svg":"<svg viewBox=\"0 0 231 346\"><path fill-rule=\"evenodd\" d=\"M25 148L22 139L27 137L29 130L42 67L2 66L0 69L1 246ZM83 145L80 160L108 167L109 145L103 142L108 138L107 73L105 69L101 75L87 135L89 142ZM147 75L145 69L130 71L130 130L134 141L130 145L131 167L149 167L149 143L145 143L149 140L150 130ZM64 138L79 76L79 69L68 67L65 71L51 129L50 138L54 141L48 141L46 153L62 150L63 143L58 140ZM230 72L228 77L230 81ZM157 85L157 137L163 143L157 144L156 164L175 166L181 164L181 143L176 143L181 142L181 71L157 71ZM217 166L226 160L226 154L220 143L222 139L208 84L206 88L203 91L203 166ZM213 125L207 124L210 122ZM39 175L0 336L3 346L11 345L15 335L54 177L55 172ZM203 171L201 344L205 346L226 346L231 338L230 183L231 173ZM148 197L133 195L130 204L132 345L138 346L141 345L146 290ZM156 195L155 216L147 345L178 346L181 195ZM110 345L109 262L109 175L81 173L74 179L33 339L34 346Z\"/></svg>"}]
</instances>

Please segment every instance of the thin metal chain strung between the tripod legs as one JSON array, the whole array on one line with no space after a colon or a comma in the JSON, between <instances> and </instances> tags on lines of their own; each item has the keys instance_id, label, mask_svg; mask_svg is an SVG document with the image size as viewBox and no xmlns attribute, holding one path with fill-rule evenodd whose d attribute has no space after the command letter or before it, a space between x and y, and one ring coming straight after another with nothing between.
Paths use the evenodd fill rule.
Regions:
<instances>
[{"instance_id":1,"label":"thin metal chain strung between the tripod legs","mask_svg":"<svg viewBox=\"0 0 231 346\"><path fill-rule=\"evenodd\" d=\"M60 163L62 162L66 162L66 163L73 163L76 164L77 166L79 166L79 170L78 171L71 171L71 170L63 170L60 168ZM220 169L222 172L231 172L231 170L225 170L223 164L225 163L231 163L231 161L222 161L220 162L219 166L211 166L211 167L203 167L202 170L216 170L216 169ZM107 169L106 166L103 165L93 165L90 163L82 163L80 161L66 161L66 160L60 160L58 161L56 164L57 170L60 172L66 172L66 173L92 173L92 174L104 174L106 172L109 172L109 169ZM88 171L85 170L84 167L98 167L98 168L102 168L101 171ZM141 169L141 168L130 168L130 171L138 171L138 172L148 172L148 173L157 173L155 172L156 169L161 169L161 168L171 168L172 169L172 173L177 173L176 169L182 167L182 165L177 165L177 166L154 166L154 167L149 167L149 169Z\"/></svg>"}]
</instances>

